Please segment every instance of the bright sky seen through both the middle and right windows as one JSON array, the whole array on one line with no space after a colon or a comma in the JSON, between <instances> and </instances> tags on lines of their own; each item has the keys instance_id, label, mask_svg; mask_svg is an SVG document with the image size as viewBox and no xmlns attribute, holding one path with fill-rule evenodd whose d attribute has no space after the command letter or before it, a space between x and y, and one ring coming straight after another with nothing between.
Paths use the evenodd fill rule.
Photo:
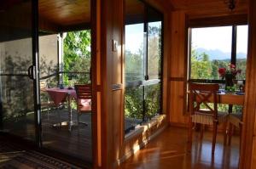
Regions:
<instances>
[{"instance_id":1,"label":"bright sky seen through both the middle and right windows","mask_svg":"<svg viewBox=\"0 0 256 169\"><path fill-rule=\"evenodd\" d=\"M157 24L157 23L155 23ZM232 26L193 28L192 47L231 52ZM125 49L137 53L143 45L143 24L125 26ZM237 26L237 53L247 54L247 25Z\"/></svg>"}]
</instances>

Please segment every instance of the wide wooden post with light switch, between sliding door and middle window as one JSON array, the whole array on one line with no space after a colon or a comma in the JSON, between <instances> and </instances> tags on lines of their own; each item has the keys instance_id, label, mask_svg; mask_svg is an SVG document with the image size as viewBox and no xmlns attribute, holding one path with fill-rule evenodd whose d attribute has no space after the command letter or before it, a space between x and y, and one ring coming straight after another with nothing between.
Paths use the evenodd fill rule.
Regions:
<instances>
[{"instance_id":1,"label":"wide wooden post with light switch, between sliding door and middle window","mask_svg":"<svg viewBox=\"0 0 256 169\"><path fill-rule=\"evenodd\" d=\"M100 91L101 168L117 167L123 138L123 31L124 0L97 1L100 18L97 19L97 61L94 64ZM100 20L100 22L98 22ZM100 25L100 27L99 27ZM116 45L115 45L116 44ZM100 76L99 76L100 75ZM96 143L94 143L96 144ZM99 163L99 162L98 162Z\"/></svg>"}]
</instances>

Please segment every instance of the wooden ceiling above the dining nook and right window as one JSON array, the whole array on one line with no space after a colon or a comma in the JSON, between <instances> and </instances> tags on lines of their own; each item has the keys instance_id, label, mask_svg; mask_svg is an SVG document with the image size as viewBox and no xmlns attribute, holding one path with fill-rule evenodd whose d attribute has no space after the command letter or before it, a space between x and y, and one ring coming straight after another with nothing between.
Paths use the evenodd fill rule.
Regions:
<instances>
[{"instance_id":1,"label":"wooden ceiling above the dining nook and right window","mask_svg":"<svg viewBox=\"0 0 256 169\"><path fill-rule=\"evenodd\" d=\"M228 0L168 0L173 10L183 10L191 18L202 18L232 14L247 14L247 0L236 0L236 8L232 11L225 3Z\"/></svg>"}]
</instances>

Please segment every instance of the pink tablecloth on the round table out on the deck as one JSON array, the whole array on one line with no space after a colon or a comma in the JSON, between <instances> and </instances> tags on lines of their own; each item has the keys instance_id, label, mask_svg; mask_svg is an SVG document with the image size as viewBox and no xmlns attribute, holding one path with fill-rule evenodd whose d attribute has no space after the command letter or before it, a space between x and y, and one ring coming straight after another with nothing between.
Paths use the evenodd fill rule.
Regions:
<instances>
[{"instance_id":1,"label":"pink tablecloth on the round table out on the deck","mask_svg":"<svg viewBox=\"0 0 256 169\"><path fill-rule=\"evenodd\" d=\"M77 93L74 89L60 89L59 87L54 87L47 88L46 92L49 93L49 97L54 101L56 106L67 99L67 94L69 94L71 98L77 99Z\"/></svg>"}]
</instances>

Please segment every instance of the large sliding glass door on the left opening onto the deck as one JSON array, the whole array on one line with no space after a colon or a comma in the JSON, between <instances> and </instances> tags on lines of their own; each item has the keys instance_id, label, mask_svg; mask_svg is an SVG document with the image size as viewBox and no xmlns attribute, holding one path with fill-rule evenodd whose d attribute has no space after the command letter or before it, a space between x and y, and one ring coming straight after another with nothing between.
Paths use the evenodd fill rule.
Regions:
<instances>
[{"instance_id":1,"label":"large sliding glass door on the left opening onto the deck","mask_svg":"<svg viewBox=\"0 0 256 169\"><path fill-rule=\"evenodd\" d=\"M45 3L49 8L44 8ZM32 141L71 162L91 163L90 28L76 30L73 22L78 15L73 13L65 22L74 20L73 26L54 21L42 26L57 8L51 3L0 3L0 134ZM79 1L79 5L63 4L82 6L81 14L90 7L88 0ZM90 22L86 17L82 19ZM59 20L62 23L63 18ZM70 30L63 31L66 29ZM90 97L79 98L79 84L86 85L85 95Z\"/></svg>"}]
</instances>

